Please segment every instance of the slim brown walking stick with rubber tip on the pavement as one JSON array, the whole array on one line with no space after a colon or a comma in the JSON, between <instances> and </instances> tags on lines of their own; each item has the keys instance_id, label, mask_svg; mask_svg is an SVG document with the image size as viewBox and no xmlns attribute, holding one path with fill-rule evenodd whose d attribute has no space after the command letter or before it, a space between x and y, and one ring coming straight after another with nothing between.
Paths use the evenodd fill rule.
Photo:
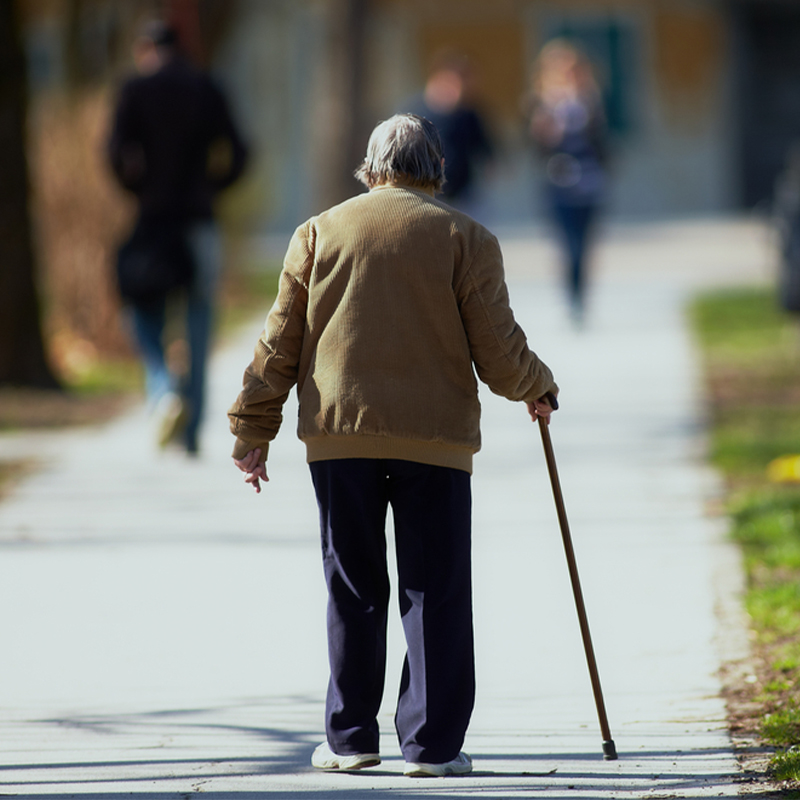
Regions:
<instances>
[{"instance_id":1,"label":"slim brown walking stick with rubber tip on the pavement","mask_svg":"<svg viewBox=\"0 0 800 800\"><path fill-rule=\"evenodd\" d=\"M547 401L555 409L558 402L552 395L547 396ZM564 507L564 498L561 494L561 483L558 480L558 470L556 468L556 457L553 453L553 444L550 441L550 430L547 420L539 417L539 431L542 434L542 445L544 446L544 456L547 461L547 471L550 474L550 484L553 487L553 498L556 503L558 523L561 526L561 538L564 540L564 551L567 554L567 566L569 567L569 577L572 582L572 594L575 597L575 606L578 610L578 622L581 627L583 637L583 649L586 651L586 662L589 665L589 677L592 680L592 692L594 692L594 702L597 706L597 716L600 720L600 733L603 736L603 758L606 761L615 761L617 758L617 748L611 738L611 729L608 727L608 717L606 716L606 706L603 702L603 690L600 687L600 675L597 672L597 661L594 657L592 647L592 637L589 633L589 621L586 618L586 606L583 603L583 592L581 582L578 577L578 565L575 562L575 551L572 547L572 536L569 532L569 522L567 522L567 511Z\"/></svg>"}]
</instances>

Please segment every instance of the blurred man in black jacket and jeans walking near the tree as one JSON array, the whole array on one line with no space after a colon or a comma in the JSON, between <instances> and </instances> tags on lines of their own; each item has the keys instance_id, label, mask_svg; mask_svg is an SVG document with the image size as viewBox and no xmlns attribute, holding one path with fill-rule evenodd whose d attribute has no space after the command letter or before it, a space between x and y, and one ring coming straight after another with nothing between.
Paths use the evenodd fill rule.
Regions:
<instances>
[{"instance_id":1,"label":"blurred man in black jacket and jeans walking near the tree","mask_svg":"<svg viewBox=\"0 0 800 800\"><path fill-rule=\"evenodd\" d=\"M241 174L246 148L223 93L182 55L175 29L148 23L134 59L139 74L121 89L108 145L114 173L139 206L125 250L129 256L135 251L124 264L133 263L133 276L125 275L133 285L123 295L129 293L160 442L177 441L195 454L222 261L213 204ZM139 285L145 268L175 277L145 287ZM170 286L185 302L183 376L173 374L164 354Z\"/></svg>"}]
</instances>

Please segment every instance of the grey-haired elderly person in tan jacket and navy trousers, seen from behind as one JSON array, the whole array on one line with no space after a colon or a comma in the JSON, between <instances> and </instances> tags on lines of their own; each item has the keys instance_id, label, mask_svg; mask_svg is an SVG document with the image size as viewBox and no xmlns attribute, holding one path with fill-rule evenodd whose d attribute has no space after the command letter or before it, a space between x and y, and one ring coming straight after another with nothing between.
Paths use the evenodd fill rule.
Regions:
<instances>
[{"instance_id":1,"label":"grey-haired elderly person in tan jacket and navy trousers, seen from behind","mask_svg":"<svg viewBox=\"0 0 800 800\"><path fill-rule=\"evenodd\" d=\"M236 466L260 491L281 407L297 385L328 586L319 769L380 763L388 506L408 647L395 717L405 774L472 769L461 747L475 697L475 373L534 419L549 419L547 396L558 392L514 320L497 239L435 199L444 167L428 120L399 114L375 128L356 173L369 192L295 232L229 412Z\"/></svg>"}]
</instances>

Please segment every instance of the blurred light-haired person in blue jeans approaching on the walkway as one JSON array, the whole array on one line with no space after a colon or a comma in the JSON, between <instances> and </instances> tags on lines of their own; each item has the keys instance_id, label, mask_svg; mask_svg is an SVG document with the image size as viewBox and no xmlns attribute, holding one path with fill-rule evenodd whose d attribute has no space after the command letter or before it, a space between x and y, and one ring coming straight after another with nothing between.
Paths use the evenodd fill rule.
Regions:
<instances>
[{"instance_id":1,"label":"blurred light-haired person in blue jeans approaching on the walkway","mask_svg":"<svg viewBox=\"0 0 800 800\"><path fill-rule=\"evenodd\" d=\"M586 56L564 39L539 54L528 102L529 134L542 155L547 202L565 250L566 287L576 322L586 303L586 255L606 190L606 119Z\"/></svg>"}]
</instances>

